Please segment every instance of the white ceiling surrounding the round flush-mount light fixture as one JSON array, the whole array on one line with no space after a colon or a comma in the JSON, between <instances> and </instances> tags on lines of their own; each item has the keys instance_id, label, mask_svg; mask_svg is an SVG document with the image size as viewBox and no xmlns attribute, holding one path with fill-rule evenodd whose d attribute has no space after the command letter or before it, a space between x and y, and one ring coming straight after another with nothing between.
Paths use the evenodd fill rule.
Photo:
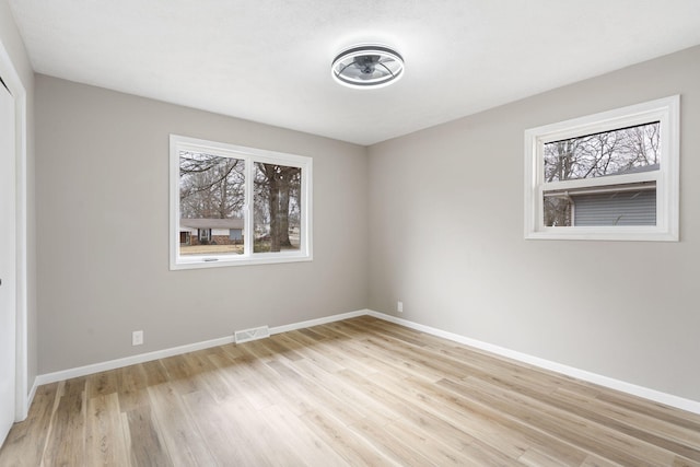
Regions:
<instances>
[{"instance_id":1,"label":"white ceiling surrounding the round flush-mount light fixture","mask_svg":"<svg viewBox=\"0 0 700 467\"><path fill-rule=\"evenodd\" d=\"M34 69L359 144L700 44L700 0L9 0ZM353 90L330 62L396 47Z\"/></svg>"}]
</instances>

